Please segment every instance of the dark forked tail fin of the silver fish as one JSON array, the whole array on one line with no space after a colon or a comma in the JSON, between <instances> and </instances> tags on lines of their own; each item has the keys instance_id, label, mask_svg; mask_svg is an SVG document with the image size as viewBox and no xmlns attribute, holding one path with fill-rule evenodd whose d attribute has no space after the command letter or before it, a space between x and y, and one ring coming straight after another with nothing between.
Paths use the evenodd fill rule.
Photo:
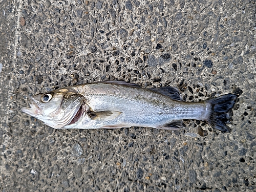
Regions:
<instances>
[{"instance_id":1,"label":"dark forked tail fin of the silver fish","mask_svg":"<svg viewBox=\"0 0 256 192\"><path fill-rule=\"evenodd\" d=\"M229 132L230 130L226 123L230 123L231 116L228 112L233 108L236 99L237 95L229 93L207 100L206 103L210 104L211 112L205 119L206 123L222 132Z\"/></svg>"}]
</instances>

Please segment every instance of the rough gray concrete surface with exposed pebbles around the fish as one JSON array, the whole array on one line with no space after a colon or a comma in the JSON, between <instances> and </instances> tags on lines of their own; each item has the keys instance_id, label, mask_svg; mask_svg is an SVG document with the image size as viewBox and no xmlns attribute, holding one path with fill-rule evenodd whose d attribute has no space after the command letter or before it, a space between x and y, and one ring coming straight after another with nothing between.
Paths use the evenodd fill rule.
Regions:
<instances>
[{"instance_id":1,"label":"rough gray concrete surface with exposed pebbles around the fish","mask_svg":"<svg viewBox=\"0 0 256 192\"><path fill-rule=\"evenodd\" d=\"M255 21L255 0L0 0L0 190L256 191ZM108 79L187 101L243 93L230 133L54 130L20 112L30 95Z\"/></svg>"}]
</instances>

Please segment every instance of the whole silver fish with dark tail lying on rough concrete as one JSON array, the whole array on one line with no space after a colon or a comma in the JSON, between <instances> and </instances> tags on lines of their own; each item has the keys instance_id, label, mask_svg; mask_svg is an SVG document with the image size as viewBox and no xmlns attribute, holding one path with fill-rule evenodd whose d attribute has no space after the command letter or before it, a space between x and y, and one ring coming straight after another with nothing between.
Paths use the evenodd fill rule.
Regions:
<instances>
[{"instance_id":1,"label":"whole silver fish with dark tail lying on rough concrete","mask_svg":"<svg viewBox=\"0 0 256 192\"><path fill-rule=\"evenodd\" d=\"M118 129L142 126L183 128L183 119L201 120L229 132L235 94L185 102L175 87L141 88L125 81L79 84L29 98L22 111L54 129Z\"/></svg>"}]
</instances>

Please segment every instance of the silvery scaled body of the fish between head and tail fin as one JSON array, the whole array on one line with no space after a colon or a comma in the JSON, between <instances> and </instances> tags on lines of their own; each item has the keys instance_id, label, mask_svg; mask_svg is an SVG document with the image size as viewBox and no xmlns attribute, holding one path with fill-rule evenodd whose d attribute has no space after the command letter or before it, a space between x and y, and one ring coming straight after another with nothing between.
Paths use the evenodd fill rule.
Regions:
<instances>
[{"instance_id":1,"label":"silvery scaled body of the fish between head and tail fin","mask_svg":"<svg viewBox=\"0 0 256 192\"><path fill-rule=\"evenodd\" d=\"M186 102L175 101L165 95L136 87L91 83L75 86L73 89L88 99L86 103L92 111L123 113L113 122L108 121L105 125L125 122L156 127L158 124L172 120L200 118L206 110L206 105L203 103L188 105Z\"/></svg>"}]
</instances>

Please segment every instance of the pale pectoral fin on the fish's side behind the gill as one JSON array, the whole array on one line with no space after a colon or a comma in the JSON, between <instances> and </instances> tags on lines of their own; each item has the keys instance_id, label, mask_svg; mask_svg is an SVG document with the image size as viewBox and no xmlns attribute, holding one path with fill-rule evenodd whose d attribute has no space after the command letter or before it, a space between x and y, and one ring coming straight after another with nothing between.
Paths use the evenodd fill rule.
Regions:
<instances>
[{"instance_id":1,"label":"pale pectoral fin on the fish's side behind the gill","mask_svg":"<svg viewBox=\"0 0 256 192\"><path fill-rule=\"evenodd\" d=\"M101 121L108 121L116 118L122 112L119 111L99 111L99 112L90 112L88 115L93 120L101 120Z\"/></svg>"}]
</instances>

